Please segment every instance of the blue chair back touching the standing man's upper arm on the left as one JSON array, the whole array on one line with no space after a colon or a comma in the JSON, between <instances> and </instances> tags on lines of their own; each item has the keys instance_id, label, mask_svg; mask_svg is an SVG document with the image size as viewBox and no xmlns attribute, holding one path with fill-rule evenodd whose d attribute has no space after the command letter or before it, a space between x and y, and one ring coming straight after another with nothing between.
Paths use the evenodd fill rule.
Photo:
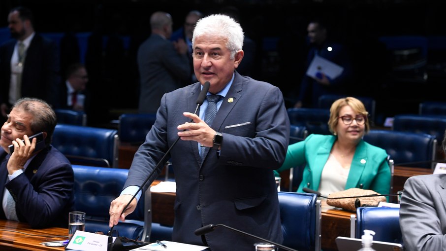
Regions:
<instances>
[{"instance_id":1,"label":"blue chair back touching the standing man's upper arm on the left","mask_svg":"<svg viewBox=\"0 0 446 251\"><path fill-rule=\"evenodd\" d=\"M143 143L157 118L152 113L124 113L119 117L119 139L126 143Z\"/></svg>"}]
</instances>

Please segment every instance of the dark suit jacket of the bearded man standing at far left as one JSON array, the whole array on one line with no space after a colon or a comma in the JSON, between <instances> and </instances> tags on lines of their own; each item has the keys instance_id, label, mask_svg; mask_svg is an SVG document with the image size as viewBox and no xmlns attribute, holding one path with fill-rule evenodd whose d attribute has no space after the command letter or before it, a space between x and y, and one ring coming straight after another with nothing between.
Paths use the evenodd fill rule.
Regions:
<instances>
[{"instance_id":1,"label":"dark suit jacket of the bearded man standing at far left","mask_svg":"<svg viewBox=\"0 0 446 251\"><path fill-rule=\"evenodd\" d=\"M0 104L9 104L11 57L17 40L8 40L0 47ZM35 97L57 107L60 83L60 62L56 43L35 34L28 47L22 73L21 97ZM9 104L11 105L11 104Z\"/></svg>"}]
</instances>

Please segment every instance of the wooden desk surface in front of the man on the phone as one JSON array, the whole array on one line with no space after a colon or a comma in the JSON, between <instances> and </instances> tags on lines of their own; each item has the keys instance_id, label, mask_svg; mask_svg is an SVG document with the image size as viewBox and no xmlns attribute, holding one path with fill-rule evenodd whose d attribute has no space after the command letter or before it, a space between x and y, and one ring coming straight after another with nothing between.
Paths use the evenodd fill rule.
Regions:
<instances>
[{"instance_id":1,"label":"wooden desk surface in front of the man on the phone","mask_svg":"<svg viewBox=\"0 0 446 251\"><path fill-rule=\"evenodd\" d=\"M0 250L24 250L24 251L55 251L65 250L65 247L46 247L40 245L41 242L62 241L68 239L68 229L61 227L50 227L42 229L32 229L27 223L10 221L0 219ZM17 232L10 232L4 230L14 230ZM31 236L33 235L46 235L46 236L65 236L65 237L42 237Z\"/></svg>"}]
</instances>

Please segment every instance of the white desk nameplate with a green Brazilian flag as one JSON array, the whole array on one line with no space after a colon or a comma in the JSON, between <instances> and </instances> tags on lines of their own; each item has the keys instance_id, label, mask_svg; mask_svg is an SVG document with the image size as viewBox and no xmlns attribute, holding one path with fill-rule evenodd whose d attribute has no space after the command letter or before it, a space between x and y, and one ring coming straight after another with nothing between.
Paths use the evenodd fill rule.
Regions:
<instances>
[{"instance_id":1,"label":"white desk nameplate with a green Brazilian flag","mask_svg":"<svg viewBox=\"0 0 446 251\"><path fill-rule=\"evenodd\" d=\"M113 242L116 237L113 237ZM108 235L94 234L77 230L65 250L107 251Z\"/></svg>"}]
</instances>

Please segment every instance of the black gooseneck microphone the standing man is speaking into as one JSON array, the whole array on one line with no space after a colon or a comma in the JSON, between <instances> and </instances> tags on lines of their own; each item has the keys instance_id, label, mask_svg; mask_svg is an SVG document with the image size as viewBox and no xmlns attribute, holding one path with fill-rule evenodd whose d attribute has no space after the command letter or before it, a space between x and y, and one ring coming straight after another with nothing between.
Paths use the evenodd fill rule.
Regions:
<instances>
[{"instance_id":1,"label":"black gooseneck microphone the standing man is speaking into","mask_svg":"<svg viewBox=\"0 0 446 251\"><path fill-rule=\"evenodd\" d=\"M204 99L206 98L206 94L209 91L209 87L211 86L211 83L209 83L209 81L206 81L203 85L203 88L201 89L200 94L198 95L197 101L196 101L196 108L195 111L193 112L193 114L196 114L198 111L198 108L200 108L201 105L203 105ZM191 120L192 122L193 120ZM167 157L167 155L169 154L170 150L172 149L172 147L178 142L178 140L180 140L180 137L178 137L174 143L172 143L172 145L169 147L169 149L167 149L167 151L164 153L164 155L162 156L162 158L159 160L157 166L152 170L152 172L150 173L150 175L147 177L147 179L144 180L144 182L142 183L142 185L138 188L138 190L136 191L135 194L133 194L133 196L131 197L130 201L127 203L127 205L124 207L123 211L121 212L121 215L126 211L127 207L130 205L131 201L136 197L136 195L139 193L139 191L141 191L141 189L146 185L146 183L150 180L150 178L153 176L153 174L155 173L155 171L159 168L159 166L164 163L164 159ZM119 238L116 238L115 243L113 243L113 237L112 237L112 232L113 232L113 227L112 226L110 228L109 234L108 234L108 246L107 246L107 251L119 251L122 250L122 243L121 241L119 241Z\"/></svg>"}]
</instances>

